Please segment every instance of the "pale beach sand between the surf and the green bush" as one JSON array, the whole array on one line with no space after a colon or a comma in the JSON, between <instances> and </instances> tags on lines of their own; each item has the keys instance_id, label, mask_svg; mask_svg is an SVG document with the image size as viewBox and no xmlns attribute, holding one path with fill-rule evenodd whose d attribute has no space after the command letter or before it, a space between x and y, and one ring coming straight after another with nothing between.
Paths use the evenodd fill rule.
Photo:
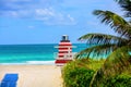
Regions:
<instances>
[{"instance_id":1,"label":"pale beach sand between the surf and the green bush","mask_svg":"<svg viewBox=\"0 0 131 87\"><path fill-rule=\"evenodd\" d=\"M56 65L0 65L0 80L17 73L17 87L62 87L61 69Z\"/></svg>"}]
</instances>

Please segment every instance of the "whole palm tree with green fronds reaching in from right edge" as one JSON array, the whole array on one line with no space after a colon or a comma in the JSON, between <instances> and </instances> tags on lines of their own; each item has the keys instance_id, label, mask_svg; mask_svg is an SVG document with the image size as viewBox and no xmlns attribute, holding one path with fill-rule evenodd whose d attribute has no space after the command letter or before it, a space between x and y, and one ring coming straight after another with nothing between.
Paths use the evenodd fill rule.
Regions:
<instances>
[{"instance_id":1,"label":"whole palm tree with green fronds reaching in from right edge","mask_svg":"<svg viewBox=\"0 0 131 87\"><path fill-rule=\"evenodd\" d=\"M91 87L99 86L104 77L120 74L123 70L131 71L131 0L116 0L124 12L126 20L110 11L95 10L93 13L102 23L109 25L118 36L106 34L86 34L79 40L87 40L93 46L80 53L76 58L102 57L108 54L104 65L94 75Z\"/></svg>"}]
</instances>

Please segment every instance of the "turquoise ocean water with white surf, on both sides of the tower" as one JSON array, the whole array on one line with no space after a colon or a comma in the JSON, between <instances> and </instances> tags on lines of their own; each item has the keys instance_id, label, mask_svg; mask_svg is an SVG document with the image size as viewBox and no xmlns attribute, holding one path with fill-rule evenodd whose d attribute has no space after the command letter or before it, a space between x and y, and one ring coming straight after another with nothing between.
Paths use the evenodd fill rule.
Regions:
<instances>
[{"instance_id":1,"label":"turquoise ocean water with white surf, on both sides of the tower","mask_svg":"<svg viewBox=\"0 0 131 87\"><path fill-rule=\"evenodd\" d=\"M48 45L0 45L0 64L53 64L57 44ZM73 44L73 52L79 52L87 46Z\"/></svg>"}]
</instances>

